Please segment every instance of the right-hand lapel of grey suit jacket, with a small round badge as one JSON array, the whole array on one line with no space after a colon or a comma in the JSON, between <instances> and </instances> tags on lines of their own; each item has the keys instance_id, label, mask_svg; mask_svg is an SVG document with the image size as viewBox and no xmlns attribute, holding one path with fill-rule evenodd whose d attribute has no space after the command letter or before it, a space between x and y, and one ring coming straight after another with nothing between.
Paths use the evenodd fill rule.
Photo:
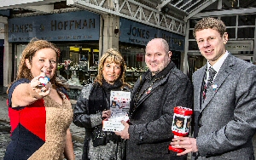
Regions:
<instances>
[{"instance_id":1,"label":"right-hand lapel of grey suit jacket, with a small round badge","mask_svg":"<svg viewBox=\"0 0 256 160\"><path fill-rule=\"evenodd\" d=\"M234 66L234 64L234 56L229 54L226 60L224 60L223 65L220 67L220 70L218 71L218 74L213 81L213 85L215 85L215 87L217 86L217 88L213 89L212 86L209 86L209 88L207 89L206 100L203 104L201 104L201 111L203 111L207 107L214 95L217 94L219 89L221 89L224 80L230 75L230 72L232 71L232 66Z\"/></svg>"}]
</instances>

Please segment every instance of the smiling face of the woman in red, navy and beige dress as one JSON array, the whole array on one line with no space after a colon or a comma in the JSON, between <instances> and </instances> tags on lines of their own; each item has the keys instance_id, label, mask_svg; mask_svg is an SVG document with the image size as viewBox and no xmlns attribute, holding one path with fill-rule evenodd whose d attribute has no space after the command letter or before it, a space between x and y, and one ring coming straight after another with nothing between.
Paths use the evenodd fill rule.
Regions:
<instances>
[{"instance_id":1,"label":"smiling face of the woman in red, navy and beige dress","mask_svg":"<svg viewBox=\"0 0 256 160\"><path fill-rule=\"evenodd\" d=\"M39 49L31 61L26 59L26 66L31 70L33 77L45 72L45 75L51 79L54 77L57 68L55 50Z\"/></svg>"}]
</instances>

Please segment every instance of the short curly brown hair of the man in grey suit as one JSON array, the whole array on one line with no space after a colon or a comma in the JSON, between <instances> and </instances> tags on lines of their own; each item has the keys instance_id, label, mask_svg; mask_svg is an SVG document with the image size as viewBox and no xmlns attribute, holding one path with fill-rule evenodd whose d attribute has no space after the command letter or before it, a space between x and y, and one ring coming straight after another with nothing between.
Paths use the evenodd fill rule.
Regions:
<instances>
[{"instance_id":1,"label":"short curly brown hair of the man in grey suit","mask_svg":"<svg viewBox=\"0 0 256 160\"><path fill-rule=\"evenodd\" d=\"M212 30L218 31L221 37L223 37L224 33L226 32L226 26L224 25L224 22L222 20L218 20L212 17L207 17L197 22L193 31L193 36L195 37L196 31L201 31L209 28Z\"/></svg>"}]
</instances>

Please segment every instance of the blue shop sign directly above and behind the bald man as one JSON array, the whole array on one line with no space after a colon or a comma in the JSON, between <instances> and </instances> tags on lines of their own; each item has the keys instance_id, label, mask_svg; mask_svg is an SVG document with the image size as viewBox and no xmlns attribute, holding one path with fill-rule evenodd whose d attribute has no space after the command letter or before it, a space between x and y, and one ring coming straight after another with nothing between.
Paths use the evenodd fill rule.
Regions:
<instances>
[{"instance_id":1,"label":"blue shop sign directly above and behind the bald man","mask_svg":"<svg viewBox=\"0 0 256 160\"><path fill-rule=\"evenodd\" d=\"M153 26L146 26L132 20L120 18L120 42L146 46L148 41L154 37L166 39L169 43L170 50L184 50L185 37L170 31L154 28Z\"/></svg>"}]
</instances>

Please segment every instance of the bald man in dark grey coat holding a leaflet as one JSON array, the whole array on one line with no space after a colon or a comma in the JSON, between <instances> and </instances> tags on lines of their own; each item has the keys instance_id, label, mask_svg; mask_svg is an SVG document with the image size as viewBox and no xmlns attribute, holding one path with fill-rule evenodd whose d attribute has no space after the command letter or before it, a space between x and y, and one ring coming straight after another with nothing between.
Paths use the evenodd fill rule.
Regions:
<instances>
[{"instance_id":1,"label":"bald man in dark grey coat holding a leaflet","mask_svg":"<svg viewBox=\"0 0 256 160\"><path fill-rule=\"evenodd\" d=\"M173 139L172 119L175 106L191 108L193 87L189 78L171 61L172 52L162 38L148 42L145 62L148 66L135 83L130 125L116 134L127 140L127 159L186 159L168 150Z\"/></svg>"}]
</instances>

